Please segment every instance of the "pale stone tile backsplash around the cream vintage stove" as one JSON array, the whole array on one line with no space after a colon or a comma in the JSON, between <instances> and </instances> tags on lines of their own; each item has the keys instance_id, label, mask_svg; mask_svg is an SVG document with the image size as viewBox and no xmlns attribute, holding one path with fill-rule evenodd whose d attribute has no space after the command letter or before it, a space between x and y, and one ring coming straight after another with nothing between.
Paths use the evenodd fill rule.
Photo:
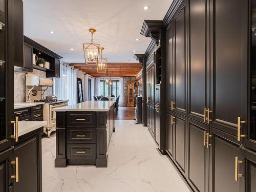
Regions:
<instances>
[{"instance_id":1,"label":"pale stone tile backsplash around the cream vintage stove","mask_svg":"<svg viewBox=\"0 0 256 192\"><path fill-rule=\"evenodd\" d=\"M39 77L46 77L44 71L34 69L33 73ZM52 94L52 87L49 87L44 95ZM16 102L26 102L26 73L14 72L14 103Z\"/></svg>"}]
</instances>

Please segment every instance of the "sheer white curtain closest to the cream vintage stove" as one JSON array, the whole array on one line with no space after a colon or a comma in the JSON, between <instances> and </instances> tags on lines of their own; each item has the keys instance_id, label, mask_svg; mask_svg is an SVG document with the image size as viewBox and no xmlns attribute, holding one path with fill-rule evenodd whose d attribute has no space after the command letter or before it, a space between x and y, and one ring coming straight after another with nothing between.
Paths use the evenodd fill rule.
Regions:
<instances>
[{"instance_id":1,"label":"sheer white curtain closest to the cream vintage stove","mask_svg":"<svg viewBox=\"0 0 256 192\"><path fill-rule=\"evenodd\" d=\"M60 65L60 78L54 78L54 95L59 100L68 99L68 104L77 103L77 71L70 66Z\"/></svg>"}]
</instances>

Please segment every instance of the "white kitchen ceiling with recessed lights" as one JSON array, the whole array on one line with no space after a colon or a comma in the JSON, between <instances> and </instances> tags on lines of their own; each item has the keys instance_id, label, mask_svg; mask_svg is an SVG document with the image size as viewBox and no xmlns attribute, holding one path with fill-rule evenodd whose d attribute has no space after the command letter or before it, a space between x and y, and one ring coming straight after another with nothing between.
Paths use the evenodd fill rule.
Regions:
<instances>
[{"instance_id":1,"label":"white kitchen ceiling with recessed lights","mask_svg":"<svg viewBox=\"0 0 256 192\"><path fill-rule=\"evenodd\" d=\"M135 62L133 50L144 53L151 41L140 35L143 20L163 19L172 1L24 0L24 34L65 62L84 62L82 43L90 42L93 27L94 42L105 47L109 62ZM144 11L144 5L151 8Z\"/></svg>"}]
</instances>

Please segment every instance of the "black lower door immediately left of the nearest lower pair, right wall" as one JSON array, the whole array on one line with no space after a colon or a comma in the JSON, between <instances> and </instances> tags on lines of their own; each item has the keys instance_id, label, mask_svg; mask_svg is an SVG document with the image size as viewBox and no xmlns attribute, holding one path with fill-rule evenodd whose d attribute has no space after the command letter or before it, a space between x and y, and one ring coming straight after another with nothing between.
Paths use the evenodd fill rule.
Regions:
<instances>
[{"instance_id":1,"label":"black lower door immediately left of the nearest lower pair, right wall","mask_svg":"<svg viewBox=\"0 0 256 192\"><path fill-rule=\"evenodd\" d=\"M186 117L175 114L174 161L185 175L186 164Z\"/></svg>"}]
</instances>

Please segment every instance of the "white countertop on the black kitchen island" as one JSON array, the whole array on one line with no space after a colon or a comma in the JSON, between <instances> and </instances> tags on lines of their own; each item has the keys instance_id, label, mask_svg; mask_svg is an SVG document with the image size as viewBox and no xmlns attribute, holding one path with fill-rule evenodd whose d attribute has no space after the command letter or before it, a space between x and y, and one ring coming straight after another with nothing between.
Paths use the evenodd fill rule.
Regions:
<instances>
[{"instance_id":1,"label":"white countertop on the black kitchen island","mask_svg":"<svg viewBox=\"0 0 256 192\"><path fill-rule=\"evenodd\" d=\"M54 111L100 111L107 112L115 101L86 101L74 105L55 108Z\"/></svg>"}]
</instances>

